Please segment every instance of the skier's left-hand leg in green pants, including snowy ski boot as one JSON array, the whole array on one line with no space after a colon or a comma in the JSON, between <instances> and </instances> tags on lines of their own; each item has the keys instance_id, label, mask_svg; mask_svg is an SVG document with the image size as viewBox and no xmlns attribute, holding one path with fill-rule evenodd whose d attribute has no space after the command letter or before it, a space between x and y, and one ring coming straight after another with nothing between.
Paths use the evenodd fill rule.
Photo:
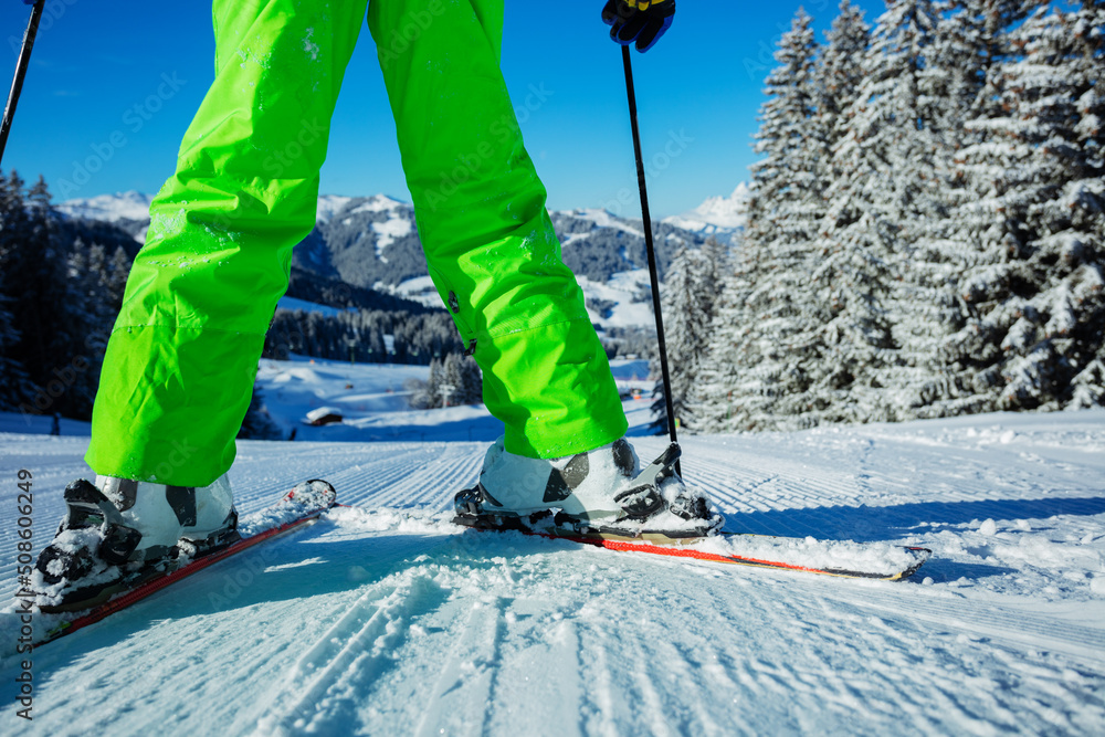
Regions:
<instances>
[{"instance_id":1,"label":"skier's left-hand leg in green pants, including snowy ski boot","mask_svg":"<svg viewBox=\"0 0 1105 737\"><path fill-rule=\"evenodd\" d=\"M366 0L299 6L214 2L215 80L150 206L104 360L86 456L99 475L66 489L39 559L66 602L234 536L234 436L292 246L315 222Z\"/></svg>"}]
</instances>

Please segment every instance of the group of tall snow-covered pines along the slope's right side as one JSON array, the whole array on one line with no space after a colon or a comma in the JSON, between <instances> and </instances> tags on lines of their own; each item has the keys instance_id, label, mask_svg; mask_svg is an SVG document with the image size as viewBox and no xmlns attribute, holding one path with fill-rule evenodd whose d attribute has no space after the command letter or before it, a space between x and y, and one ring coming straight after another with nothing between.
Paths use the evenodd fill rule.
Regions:
<instances>
[{"instance_id":1,"label":"group of tall snow-covered pines along the slope's right side","mask_svg":"<svg viewBox=\"0 0 1105 737\"><path fill-rule=\"evenodd\" d=\"M845 0L776 60L724 289L667 281L682 422L1105 404L1105 2Z\"/></svg>"}]
</instances>

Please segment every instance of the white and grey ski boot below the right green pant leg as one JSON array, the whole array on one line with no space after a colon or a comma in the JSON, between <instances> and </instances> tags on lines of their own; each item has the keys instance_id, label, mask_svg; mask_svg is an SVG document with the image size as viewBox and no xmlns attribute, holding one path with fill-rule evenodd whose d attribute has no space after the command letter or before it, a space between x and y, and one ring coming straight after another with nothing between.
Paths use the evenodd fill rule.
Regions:
<instances>
[{"instance_id":1,"label":"white and grey ski boot below the right green pant leg","mask_svg":"<svg viewBox=\"0 0 1105 737\"><path fill-rule=\"evenodd\" d=\"M454 522L654 543L709 535L724 520L675 473L678 457L680 446L672 443L641 471L624 439L554 460L507 453L499 439L487 451L476 486L454 498Z\"/></svg>"}]
</instances>

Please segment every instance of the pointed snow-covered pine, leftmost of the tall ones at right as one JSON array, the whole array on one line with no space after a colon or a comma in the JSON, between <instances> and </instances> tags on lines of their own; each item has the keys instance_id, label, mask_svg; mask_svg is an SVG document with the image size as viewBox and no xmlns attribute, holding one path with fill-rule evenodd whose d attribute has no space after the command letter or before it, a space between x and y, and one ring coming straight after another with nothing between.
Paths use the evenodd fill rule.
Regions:
<instances>
[{"instance_id":1,"label":"pointed snow-covered pine, leftmost of the tall ones at right","mask_svg":"<svg viewBox=\"0 0 1105 737\"><path fill-rule=\"evenodd\" d=\"M753 167L741 244L747 271L726 286L733 294L723 296L726 308L708 360L708 390L725 404L703 407L704 429L765 427L772 415L801 415L810 373L820 365L811 338L821 316L806 294L824 164L823 136L814 125L818 44L811 22L799 9L779 41L779 66L767 78L770 99L760 109L756 135L764 158Z\"/></svg>"}]
</instances>

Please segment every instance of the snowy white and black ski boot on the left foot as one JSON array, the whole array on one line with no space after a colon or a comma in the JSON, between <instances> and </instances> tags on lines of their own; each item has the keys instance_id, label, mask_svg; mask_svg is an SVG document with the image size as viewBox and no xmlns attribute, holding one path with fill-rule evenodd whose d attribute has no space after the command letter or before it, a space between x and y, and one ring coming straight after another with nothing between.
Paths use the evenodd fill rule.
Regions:
<instances>
[{"instance_id":1,"label":"snowy white and black ski boot on the left foot","mask_svg":"<svg viewBox=\"0 0 1105 737\"><path fill-rule=\"evenodd\" d=\"M65 504L31 576L43 611L94 607L240 539L227 476L199 488L82 478L65 487Z\"/></svg>"}]
</instances>

